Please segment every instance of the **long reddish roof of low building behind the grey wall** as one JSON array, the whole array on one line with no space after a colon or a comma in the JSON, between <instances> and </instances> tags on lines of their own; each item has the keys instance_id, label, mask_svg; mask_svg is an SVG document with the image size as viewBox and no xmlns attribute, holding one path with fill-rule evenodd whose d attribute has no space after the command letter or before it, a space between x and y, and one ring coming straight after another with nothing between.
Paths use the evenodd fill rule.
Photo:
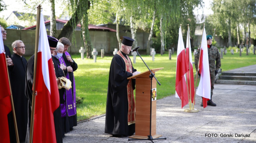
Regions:
<instances>
[{"instance_id":1,"label":"long reddish roof of low building behind the grey wall","mask_svg":"<svg viewBox=\"0 0 256 143\"><path fill-rule=\"evenodd\" d=\"M65 24L66 24L66 23L68 22L68 20L56 19L56 22L65 23ZM44 22L44 24L48 24L48 23L50 23L50 20L47 20L47 21ZM76 25L76 26L81 27L80 24L78 24L78 25ZM34 27L36 27L36 25L33 25L33 26L30 26L30 27L24 28L23 30L32 29L32 28L34 28ZM89 25L88 25L88 29L89 29L89 30L100 30L100 31L116 32L115 29L108 28L108 27L102 27L102 26L96 26L96 25L92 25L92 24L89 24Z\"/></svg>"}]
</instances>

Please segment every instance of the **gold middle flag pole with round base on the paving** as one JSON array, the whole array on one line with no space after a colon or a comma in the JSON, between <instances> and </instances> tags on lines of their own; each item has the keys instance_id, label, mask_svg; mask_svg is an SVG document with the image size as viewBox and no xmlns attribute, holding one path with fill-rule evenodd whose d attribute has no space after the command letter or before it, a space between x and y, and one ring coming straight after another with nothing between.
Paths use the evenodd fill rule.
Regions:
<instances>
[{"instance_id":1,"label":"gold middle flag pole with round base on the paving","mask_svg":"<svg viewBox=\"0 0 256 143\"><path fill-rule=\"evenodd\" d=\"M188 24L188 38L189 38L190 36L189 36L189 24ZM196 113L196 112L199 112L199 110L197 110L197 109L194 109L194 104L195 104L195 98L194 98L194 103L193 103L193 108L192 108L192 100L191 100L191 75L190 75L190 49L191 49L191 47L190 47L190 39L188 40L188 71L189 71L189 87L190 87L190 89L189 89L189 104L190 104L190 106L189 106L189 109L185 109L184 110L184 112L189 112L189 113ZM186 50L186 52L187 52L187 50ZM186 76L187 77L187 76ZM195 97L195 96L194 96ZM191 109L192 108L192 109Z\"/></svg>"}]
</instances>

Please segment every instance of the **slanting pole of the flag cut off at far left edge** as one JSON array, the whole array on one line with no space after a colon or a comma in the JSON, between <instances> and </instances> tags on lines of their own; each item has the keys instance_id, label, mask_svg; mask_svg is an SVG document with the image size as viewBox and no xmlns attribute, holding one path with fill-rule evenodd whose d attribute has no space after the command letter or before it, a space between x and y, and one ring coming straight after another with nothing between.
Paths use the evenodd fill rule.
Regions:
<instances>
[{"instance_id":1,"label":"slanting pole of the flag cut off at far left edge","mask_svg":"<svg viewBox=\"0 0 256 143\"><path fill-rule=\"evenodd\" d=\"M5 61L6 61L6 57L5 57L5 56L4 56L4 59L5 59ZM10 93L11 93L11 97L10 97L10 98L11 98L12 115L13 115L13 121L14 121L16 139L17 139L17 143L20 143L19 134L18 134L18 127L17 127L17 122L16 122L16 115L15 115L14 104L13 104L13 98L12 98L12 88L11 88L11 82L10 82L10 77L9 77L9 71L8 71L7 61L6 61L6 69L7 69L7 76L8 76L8 82L9 82Z\"/></svg>"}]
</instances>

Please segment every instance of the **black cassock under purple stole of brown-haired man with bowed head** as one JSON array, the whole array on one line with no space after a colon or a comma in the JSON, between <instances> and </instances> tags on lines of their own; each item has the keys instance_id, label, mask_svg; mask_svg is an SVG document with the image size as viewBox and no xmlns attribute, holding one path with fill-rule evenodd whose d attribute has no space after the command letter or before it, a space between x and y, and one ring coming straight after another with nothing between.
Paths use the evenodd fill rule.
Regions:
<instances>
[{"instance_id":1,"label":"black cassock under purple stole of brown-haired man with bowed head","mask_svg":"<svg viewBox=\"0 0 256 143\"><path fill-rule=\"evenodd\" d=\"M71 66L72 69L73 69L73 72L76 71L76 69L78 68L78 66L77 66L77 64L76 64L75 61L74 61L73 63L69 62L69 61L67 60L66 54L64 54L64 53L63 53L63 55L62 55L62 58L64 59L64 62L65 62L65 64L66 64L67 67L68 67L68 66ZM73 60L73 59L72 59L72 60ZM73 72L68 72L69 80L72 82L72 83L71 83L71 86L72 86L72 88L71 88L72 95L73 95L73 93L74 93L74 92L73 92L73 89L74 89L74 86L73 86L73 79L74 79ZM73 95L73 96L74 96L74 95ZM67 98L66 98L66 99L67 99ZM73 98L72 98L72 99L73 99ZM68 113L67 113L67 115L68 115ZM73 128L74 126L77 126L77 116L76 116L76 115L74 115L74 116L69 116L69 117L68 117L68 122L69 122L69 128Z\"/></svg>"}]
</instances>

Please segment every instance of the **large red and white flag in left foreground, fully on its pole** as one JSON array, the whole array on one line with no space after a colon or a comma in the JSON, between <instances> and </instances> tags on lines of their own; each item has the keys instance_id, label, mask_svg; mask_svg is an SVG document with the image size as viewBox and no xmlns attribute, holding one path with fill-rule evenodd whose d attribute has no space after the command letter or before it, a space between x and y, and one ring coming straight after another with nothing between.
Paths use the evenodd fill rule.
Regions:
<instances>
[{"instance_id":1,"label":"large red and white flag in left foreground, fully on its pole","mask_svg":"<svg viewBox=\"0 0 256 143\"><path fill-rule=\"evenodd\" d=\"M42 13L35 62L37 65L34 90L37 95L33 142L56 143L53 112L60 106L60 97Z\"/></svg>"}]
</instances>

